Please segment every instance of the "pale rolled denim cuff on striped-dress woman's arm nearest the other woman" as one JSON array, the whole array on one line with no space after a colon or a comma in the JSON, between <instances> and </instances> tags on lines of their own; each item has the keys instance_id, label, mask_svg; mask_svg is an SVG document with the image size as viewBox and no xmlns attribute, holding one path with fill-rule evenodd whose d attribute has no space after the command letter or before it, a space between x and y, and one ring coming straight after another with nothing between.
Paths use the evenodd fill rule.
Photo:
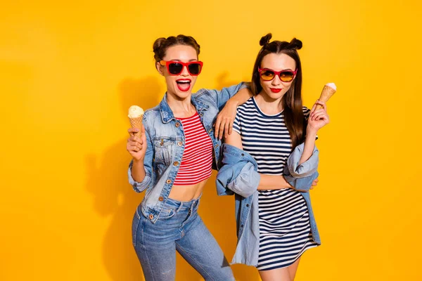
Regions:
<instances>
[{"instance_id":1,"label":"pale rolled denim cuff on striped-dress woman's arm nearest the other woman","mask_svg":"<svg viewBox=\"0 0 422 281\"><path fill-rule=\"evenodd\" d=\"M261 176L255 171L255 166L248 162L243 166L234 181L227 184L227 188L243 197L249 197L257 191Z\"/></svg>"}]
</instances>

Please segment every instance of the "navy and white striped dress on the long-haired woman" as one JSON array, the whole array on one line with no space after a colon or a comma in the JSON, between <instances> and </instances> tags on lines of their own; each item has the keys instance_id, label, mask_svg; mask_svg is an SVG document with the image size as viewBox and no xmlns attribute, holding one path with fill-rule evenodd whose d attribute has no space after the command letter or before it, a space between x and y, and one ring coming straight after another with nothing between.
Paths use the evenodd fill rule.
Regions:
<instances>
[{"instance_id":1,"label":"navy and white striped dress on the long-haired woman","mask_svg":"<svg viewBox=\"0 0 422 281\"><path fill-rule=\"evenodd\" d=\"M303 107L307 118L310 110ZM243 150L258 164L261 174L281 175L292 143L283 112L265 115L250 98L237 109L234 131L242 138ZM291 188L259 190L260 256L258 270L284 268L309 248L312 239L305 199Z\"/></svg>"}]
</instances>

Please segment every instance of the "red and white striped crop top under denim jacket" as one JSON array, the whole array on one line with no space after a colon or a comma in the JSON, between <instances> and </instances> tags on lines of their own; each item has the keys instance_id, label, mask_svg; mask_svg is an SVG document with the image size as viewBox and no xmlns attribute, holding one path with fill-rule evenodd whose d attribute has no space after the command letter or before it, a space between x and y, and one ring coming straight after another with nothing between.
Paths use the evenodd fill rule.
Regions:
<instances>
[{"instance_id":1,"label":"red and white striped crop top under denim jacket","mask_svg":"<svg viewBox=\"0 0 422 281\"><path fill-rule=\"evenodd\" d=\"M198 112L187 118L177 118L183 125L185 149L173 185L193 185L211 176L212 141Z\"/></svg>"}]
</instances>

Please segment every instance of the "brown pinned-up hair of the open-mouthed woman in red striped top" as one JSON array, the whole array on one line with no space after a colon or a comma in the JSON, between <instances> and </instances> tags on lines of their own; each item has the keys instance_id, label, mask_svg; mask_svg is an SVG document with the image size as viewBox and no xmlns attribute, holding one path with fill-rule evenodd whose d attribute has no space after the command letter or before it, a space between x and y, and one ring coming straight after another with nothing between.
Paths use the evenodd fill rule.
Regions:
<instances>
[{"instance_id":1,"label":"brown pinned-up hair of the open-mouthed woman in red striped top","mask_svg":"<svg viewBox=\"0 0 422 281\"><path fill-rule=\"evenodd\" d=\"M167 51L167 48L175 45L191 46L195 49L196 54L199 55L200 46L198 42L196 42L196 40L193 39L193 37L191 36L179 34L177 35L177 37L161 37L155 40L153 44L155 63L160 62L160 60L165 57L165 52Z\"/></svg>"}]
</instances>

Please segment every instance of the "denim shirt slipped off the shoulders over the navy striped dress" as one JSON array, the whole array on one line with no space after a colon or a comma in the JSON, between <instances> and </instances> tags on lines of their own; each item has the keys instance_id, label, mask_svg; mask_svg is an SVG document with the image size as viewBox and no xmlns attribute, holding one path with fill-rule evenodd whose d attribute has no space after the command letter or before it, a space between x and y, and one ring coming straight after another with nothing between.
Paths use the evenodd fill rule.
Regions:
<instances>
[{"instance_id":1,"label":"denim shirt slipped off the shoulders over the navy striped dress","mask_svg":"<svg viewBox=\"0 0 422 281\"><path fill-rule=\"evenodd\" d=\"M283 171L286 181L295 187L305 198L309 211L309 222L311 225L314 241L321 244L318 228L312 211L309 188L312 182L318 177L319 152L314 148L312 156L299 165L300 157L305 145L298 145L288 157ZM260 250L260 222L258 206L258 185L260 174L255 159L248 152L245 152L233 145L222 145L222 167L217 174L218 195L235 195L235 213L238 243L236 252L231 261L244 263L248 266L257 266Z\"/></svg>"}]
</instances>

